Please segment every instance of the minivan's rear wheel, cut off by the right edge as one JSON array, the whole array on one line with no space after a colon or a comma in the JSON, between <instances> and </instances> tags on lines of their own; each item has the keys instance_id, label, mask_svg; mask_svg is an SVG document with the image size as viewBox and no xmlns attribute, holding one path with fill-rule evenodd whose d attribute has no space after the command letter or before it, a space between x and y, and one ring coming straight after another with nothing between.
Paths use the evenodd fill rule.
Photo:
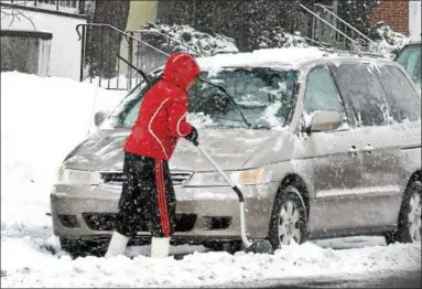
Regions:
<instances>
[{"instance_id":1,"label":"minivan's rear wheel, cut off by the right edge","mask_svg":"<svg viewBox=\"0 0 422 289\"><path fill-rule=\"evenodd\" d=\"M404 193L399 215L398 231L385 234L387 245L396 242L421 242L421 181L412 181Z\"/></svg>"}]
</instances>

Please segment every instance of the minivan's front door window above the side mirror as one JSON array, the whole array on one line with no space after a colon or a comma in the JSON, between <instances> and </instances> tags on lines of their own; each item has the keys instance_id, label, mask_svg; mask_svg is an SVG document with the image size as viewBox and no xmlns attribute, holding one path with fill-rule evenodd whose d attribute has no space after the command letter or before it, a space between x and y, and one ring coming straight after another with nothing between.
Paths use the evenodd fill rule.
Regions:
<instances>
[{"instance_id":1,"label":"minivan's front door window above the side mirror","mask_svg":"<svg viewBox=\"0 0 422 289\"><path fill-rule=\"evenodd\" d=\"M345 117L340 95L327 67L316 68L309 74L304 107L309 115L317 110L328 110Z\"/></svg>"}]
</instances>

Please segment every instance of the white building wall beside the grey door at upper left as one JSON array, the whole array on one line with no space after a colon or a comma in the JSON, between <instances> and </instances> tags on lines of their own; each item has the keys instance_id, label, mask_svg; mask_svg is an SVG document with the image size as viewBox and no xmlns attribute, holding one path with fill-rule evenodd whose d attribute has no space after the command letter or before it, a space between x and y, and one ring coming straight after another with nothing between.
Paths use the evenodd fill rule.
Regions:
<instances>
[{"instance_id":1,"label":"white building wall beside the grey door at upper left","mask_svg":"<svg viewBox=\"0 0 422 289\"><path fill-rule=\"evenodd\" d=\"M3 9L3 7L2 7ZM42 11L20 8L21 12L32 20L35 30L53 33L50 54L50 75L79 79L80 67L80 41L76 33L76 25L86 23L86 19L69 15L46 13ZM2 29L34 30L34 26L25 18L14 19L11 17L1 19Z\"/></svg>"}]
</instances>

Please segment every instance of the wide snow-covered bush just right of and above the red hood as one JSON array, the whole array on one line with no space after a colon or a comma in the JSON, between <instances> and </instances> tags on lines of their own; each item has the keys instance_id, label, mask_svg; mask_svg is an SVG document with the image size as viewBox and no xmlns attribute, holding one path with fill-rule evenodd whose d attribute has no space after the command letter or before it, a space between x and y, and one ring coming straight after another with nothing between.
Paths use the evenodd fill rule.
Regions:
<instances>
[{"instance_id":1,"label":"wide snow-covered bush just right of and above the red hood","mask_svg":"<svg viewBox=\"0 0 422 289\"><path fill-rule=\"evenodd\" d=\"M212 35L199 32L190 25L150 23L142 28L141 31L143 32L142 40L166 52L182 51L192 53L192 50L194 50L195 52L199 52L201 55L214 55L217 53L239 51L236 47L234 39L217 33L213 33ZM167 38L154 32L160 32L175 41L169 43ZM191 50L188 51L188 49Z\"/></svg>"}]
</instances>

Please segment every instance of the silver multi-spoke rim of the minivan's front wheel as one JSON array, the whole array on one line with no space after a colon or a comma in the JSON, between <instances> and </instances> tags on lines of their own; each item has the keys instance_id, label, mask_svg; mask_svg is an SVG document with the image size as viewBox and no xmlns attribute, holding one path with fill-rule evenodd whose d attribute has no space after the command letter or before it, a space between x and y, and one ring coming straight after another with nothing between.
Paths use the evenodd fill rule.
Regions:
<instances>
[{"instance_id":1,"label":"silver multi-spoke rim of the minivan's front wheel","mask_svg":"<svg viewBox=\"0 0 422 289\"><path fill-rule=\"evenodd\" d=\"M290 245L291 240L301 242L301 213L293 201L288 201L280 210L279 239L281 245Z\"/></svg>"}]
</instances>

